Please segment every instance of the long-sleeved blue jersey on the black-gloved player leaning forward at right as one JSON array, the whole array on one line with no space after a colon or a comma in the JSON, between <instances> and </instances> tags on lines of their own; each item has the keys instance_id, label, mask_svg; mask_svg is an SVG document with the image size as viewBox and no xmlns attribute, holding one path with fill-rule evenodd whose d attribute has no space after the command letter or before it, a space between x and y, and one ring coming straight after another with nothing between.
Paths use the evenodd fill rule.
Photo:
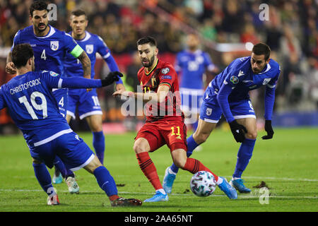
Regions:
<instances>
[{"instance_id":1,"label":"long-sleeved blue jersey on the black-gloved player leaning forward at right","mask_svg":"<svg viewBox=\"0 0 318 226\"><path fill-rule=\"evenodd\" d=\"M204 92L205 102L218 102L227 121L234 120L229 103L249 100L249 91L266 85L265 114L267 120L271 119L275 88L281 68L276 61L270 59L263 71L254 74L251 57L242 57L232 61L216 78L209 83Z\"/></svg>"}]
</instances>

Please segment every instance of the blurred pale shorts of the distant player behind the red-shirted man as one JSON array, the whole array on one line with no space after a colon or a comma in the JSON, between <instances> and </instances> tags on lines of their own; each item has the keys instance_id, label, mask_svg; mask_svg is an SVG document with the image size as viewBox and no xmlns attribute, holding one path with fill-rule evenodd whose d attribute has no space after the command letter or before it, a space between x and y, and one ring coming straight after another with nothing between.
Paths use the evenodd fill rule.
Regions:
<instances>
[{"instance_id":1,"label":"blurred pale shorts of the distant player behind the red-shirted man","mask_svg":"<svg viewBox=\"0 0 318 226\"><path fill-rule=\"evenodd\" d=\"M180 88L181 109L184 112L200 112L204 90Z\"/></svg>"}]
</instances>

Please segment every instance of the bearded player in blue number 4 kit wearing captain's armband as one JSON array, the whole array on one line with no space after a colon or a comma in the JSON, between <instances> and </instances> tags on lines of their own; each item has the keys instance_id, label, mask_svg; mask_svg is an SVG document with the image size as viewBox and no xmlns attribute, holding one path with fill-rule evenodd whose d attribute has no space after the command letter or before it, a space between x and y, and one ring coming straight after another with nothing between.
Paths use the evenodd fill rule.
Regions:
<instances>
[{"instance_id":1,"label":"bearded player in blue number 4 kit wearing captain's armband","mask_svg":"<svg viewBox=\"0 0 318 226\"><path fill-rule=\"evenodd\" d=\"M90 59L83 49L76 43L71 35L62 32L49 25L47 4L44 1L35 1L30 6L30 25L23 30L18 30L13 39L13 47L16 44L30 43L35 54L35 71L51 70L56 71L62 77L65 76L64 56L71 54L74 59L78 59L83 67L82 76L90 78ZM12 47L12 48L13 48ZM11 62L11 54L8 54L6 64L6 72L16 73L13 63ZM59 112L66 117L66 107L68 105L68 89L54 89L54 97L59 104ZM79 186L76 183L73 172L65 169L63 162L54 161L55 172L53 177L54 184L62 182L61 175L65 178L66 184L71 193L78 193ZM58 169L58 170L57 170Z\"/></svg>"}]
</instances>

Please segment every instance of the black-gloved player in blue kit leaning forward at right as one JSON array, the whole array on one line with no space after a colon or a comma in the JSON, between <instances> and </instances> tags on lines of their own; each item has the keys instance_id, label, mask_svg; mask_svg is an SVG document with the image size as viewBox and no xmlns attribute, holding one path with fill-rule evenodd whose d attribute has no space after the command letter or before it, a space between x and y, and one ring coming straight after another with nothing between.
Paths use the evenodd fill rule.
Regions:
<instances>
[{"instance_id":1,"label":"black-gloved player in blue kit leaning forward at right","mask_svg":"<svg viewBox=\"0 0 318 226\"><path fill-rule=\"evenodd\" d=\"M264 43L255 44L251 57L235 59L216 78L211 81L204 93L199 126L187 138L187 156L192 155L194 148L204 143L213 129L216 128L221 114L224 115L235 141L242 143L237 153L235 172L230 184L240 193L251 192L241 179L242 173L252 157L257 138L257 121L249 91L266 85L265 92L265 131L263 139L273 138L271 116L275 101L275 88L280 66L270 59L271 49ZM178 168L175 165L167 167L163 179L163 188L167 193L172 191Z\"/></svg>"}]
</instances>

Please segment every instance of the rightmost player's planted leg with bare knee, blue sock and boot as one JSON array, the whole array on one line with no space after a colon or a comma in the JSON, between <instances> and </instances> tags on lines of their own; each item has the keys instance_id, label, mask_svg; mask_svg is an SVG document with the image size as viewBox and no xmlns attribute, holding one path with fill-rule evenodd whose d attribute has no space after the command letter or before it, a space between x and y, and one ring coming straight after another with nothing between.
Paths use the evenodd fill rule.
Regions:
<instances>
[{"instance_id":1,"label":"rightmost player's planted leg with bare knee, blue sock and boot","mask_svg":"<svg viewBox=\"0 0 318 226\"><path fill-rule=\"evenodd\" d=\"M237 163L235 166L235 172L232 175L231 184L240 191L240 193L251 192L241 179L242 173L245 171L249 161L251 160L254 145L257 139L257 120L254 117L236 119L238 124L242 124L247 129L245 134L245 141L242 142L237 152Z\"/></svg>"}]
</instances>

